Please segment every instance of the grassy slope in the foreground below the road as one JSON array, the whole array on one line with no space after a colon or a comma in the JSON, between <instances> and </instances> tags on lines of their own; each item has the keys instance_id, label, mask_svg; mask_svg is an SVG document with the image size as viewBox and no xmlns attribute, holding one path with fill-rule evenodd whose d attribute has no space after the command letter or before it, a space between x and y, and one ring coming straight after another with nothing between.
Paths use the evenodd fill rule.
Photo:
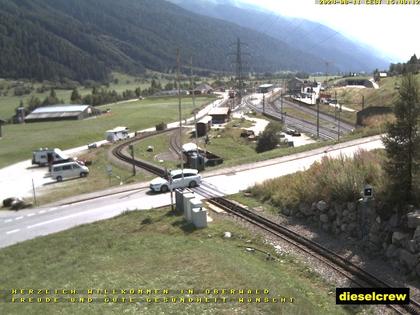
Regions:
<instances>
[{"instance_id":1,"label":"grassy slope in the foreground below the road","mask_svg":"<svg viewBox=\"0 0 420 315\"><path fill-rule=\"evenodd\" d=\"M232 238L222 237L230 231ZM248 252L253 247L270 253ZM136 211L110 220L23 242L0 250L3 299L12 289L66 289L76 294L48 303L0 302L2 314L355 314L360 307L335 304L335 288L289 254L277 254L255 233L220 218L196 230L168 211ZM169 294L95 294L97 302L71 303L93 290L168 290ZM181 290L194 290L187 295ZM206 289L268 289L286 303L239 303L256 294L207 294ZM212 291L214 292L214 291ZM49 295L55 297L55 293ZM15 296L20 297L20 296ZM28 297L28 296L26 296ZM43 298L47 296L41 296ZM137 303L105 303L132 297ZM226 303L166 303L168 298L228 297ZM264 296L263 296L264 297ZM160 298L160 302L145 299ZM233 300L231 301L230 298ZM293 303L290 303L293 298ZM112 300L111 300L112 301ZM171 300L170 300L171 301ZM179 300L178 300L179 301Z\"/></svg>"}]
</instances>

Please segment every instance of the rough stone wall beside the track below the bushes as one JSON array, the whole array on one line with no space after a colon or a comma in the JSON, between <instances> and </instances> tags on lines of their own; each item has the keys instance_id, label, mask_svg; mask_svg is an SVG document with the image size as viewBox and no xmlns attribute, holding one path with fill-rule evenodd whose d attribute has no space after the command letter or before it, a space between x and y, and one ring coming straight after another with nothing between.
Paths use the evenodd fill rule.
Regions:
<instances>
[{"instance_id":1,"label":"rough stone wall beside the track below the bushes","mask_svg":"<svg viewBox=\"0 0 420 315\"><path fill-rule=\"evenodd\" d=\"M282 209L287 216L305 218L333 235L352 237L370 253L385 256L399 271L420 277L420 209L410 207L407 215L383 220L374 200L327 203L323 200Z\"/></svg>"}]
</instances>

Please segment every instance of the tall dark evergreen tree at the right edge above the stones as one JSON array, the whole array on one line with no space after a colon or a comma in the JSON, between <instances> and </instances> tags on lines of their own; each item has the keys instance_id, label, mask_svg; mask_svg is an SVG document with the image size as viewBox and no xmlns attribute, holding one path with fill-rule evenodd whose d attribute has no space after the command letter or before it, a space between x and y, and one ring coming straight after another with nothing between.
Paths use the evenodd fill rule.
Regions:
<instances>
[{"instance_id":1,"label":"tall dark evergreen tree at the right edge above the stones","mask_svg":"<svg viewBox=\"0 0 420 315\"><path fill-rule=\"evenodd\" d=\"M420 163L420 91L412 74L403 77L399 100L394 107L395 122L388 124L383 141L388 156L385 170L392 200L399 206L416 202L416 176Z\"/></svg>"}]
</instances>

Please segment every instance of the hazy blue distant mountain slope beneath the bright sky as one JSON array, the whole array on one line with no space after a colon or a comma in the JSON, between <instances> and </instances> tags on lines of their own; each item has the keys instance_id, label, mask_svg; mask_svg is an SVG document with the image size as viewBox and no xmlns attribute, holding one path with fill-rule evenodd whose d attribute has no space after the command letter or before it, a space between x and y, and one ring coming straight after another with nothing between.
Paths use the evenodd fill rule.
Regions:
<instances>
[{"instance_id":1,"label":"hazy blue distant mountain slope beneath the bright sky","mask_svg":"<svg viewBox=\"0 0 420 315\"><path fill-rule=\"evenodd\" d=\"M322 56L325 62L340 71L372 71L387 68L389 61L377 57L372 48L356 43L333 29L305 19L289 18L253 9L229 0L169 0L192 12L231 21L265 33L293 48Z\"/></svg>"}]
</instances>

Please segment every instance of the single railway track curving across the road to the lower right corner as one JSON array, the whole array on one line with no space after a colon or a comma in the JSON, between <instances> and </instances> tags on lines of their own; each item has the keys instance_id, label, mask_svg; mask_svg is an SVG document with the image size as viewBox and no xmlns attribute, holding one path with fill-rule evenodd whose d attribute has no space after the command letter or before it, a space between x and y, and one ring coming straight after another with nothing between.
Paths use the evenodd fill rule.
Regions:
<instances>
[{"instance_id":1,"label":"single railway track curving across the road to the lower right corner","mask_svg":"<svg viewBox=\"0 0 420 315\"><path fill-rule=\"evenodd\" d=\"M164 132L170 132L174 129L175 128L165 131L142 134L116 146L112 149L112 154L122 161L125 161L129 164L134 163L137 167L142 168L157 176L164 176L165 170L163 168L145 161L132 159L125 151L130 144L136 141L141 141L148 137L155 136ZM173 145L176 146L176 139L174 140ZM236 203L233 203L232 201L229 201L223 197L223 192L218 191L217 187L212 187L207 183L202 183L201 186L193 188L192 190L206 198L209 203L225 210L227 213L239 217L259 227L260 229L285 240L306 254L315 257L325 265L350 279L358 287L392 287L383 280L378 279L375 275L366 272L347 259L332 252L328 248L308 238L305 238L302 235L297 234L284 225L277 224L259 214L256 214L255 212L252 212L237 205ZM398 314L420 314L420 303L414 299L410 299L410 304L408 305L388 305L388 307L392 308Z\"/></svg>"}]
</instances>

